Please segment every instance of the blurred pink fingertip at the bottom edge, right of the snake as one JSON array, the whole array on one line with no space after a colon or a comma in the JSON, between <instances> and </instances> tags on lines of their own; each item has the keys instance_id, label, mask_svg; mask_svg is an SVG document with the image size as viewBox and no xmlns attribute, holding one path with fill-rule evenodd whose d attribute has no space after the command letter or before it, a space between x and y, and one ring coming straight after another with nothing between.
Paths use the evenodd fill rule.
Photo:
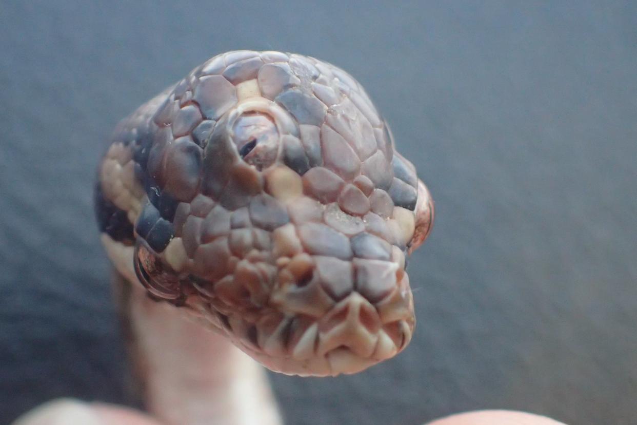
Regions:
<instances>
[{"instance_id":1,"label":"blurred pink fingertip at the bottom edge, right of the snake","mask_svg":"<svg viewBox=\"0 0 637 425\"><path fill-rule=\"evenodd\" d=\"M455 414L426 425L564 425L545 416L511 410L480 410Z\"/></svg>"}]
</instances>

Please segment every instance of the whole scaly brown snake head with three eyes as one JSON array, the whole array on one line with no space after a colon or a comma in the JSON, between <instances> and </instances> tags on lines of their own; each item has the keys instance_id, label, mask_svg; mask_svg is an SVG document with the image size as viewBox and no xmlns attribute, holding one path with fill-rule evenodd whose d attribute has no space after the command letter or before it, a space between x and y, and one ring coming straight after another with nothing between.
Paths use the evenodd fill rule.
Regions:
<instances>
[{"instance_id":1,"label":"whole scaly brown snake head with three eyes","mask_svg":"<svg viewBox=\"0 0 637 425\"><path fill-rule=\"evenodd\" d=\"M94 199L123 305L141 294L269 370L357 373L412 339L406 257L433 201L328 62L212 57L115 127Z\"/></svg>"}]
</instances>

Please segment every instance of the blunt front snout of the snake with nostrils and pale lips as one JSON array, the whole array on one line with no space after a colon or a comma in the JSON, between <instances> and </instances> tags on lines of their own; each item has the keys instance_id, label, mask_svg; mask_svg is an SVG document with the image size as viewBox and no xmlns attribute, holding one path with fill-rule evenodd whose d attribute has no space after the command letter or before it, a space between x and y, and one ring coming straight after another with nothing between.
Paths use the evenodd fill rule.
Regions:
<instances>
[{"instance_id":1,"label":"blunt front snout of the snake with nostrils and pale lips","mask_svg":"<svg viewBox=\"0 0 637 425\"><path fill-rule=\"evenodd\" d=\"M285 264L270 303L294 326L269 338L282 338L297 362L294 371L287 363L286 373L308 374L310 365L313 375L355 373L406 347L415 323L413 300L404 256L400 250L394 255L346 261L301 252L279 261Z\"/></svg>"}]
</instances>

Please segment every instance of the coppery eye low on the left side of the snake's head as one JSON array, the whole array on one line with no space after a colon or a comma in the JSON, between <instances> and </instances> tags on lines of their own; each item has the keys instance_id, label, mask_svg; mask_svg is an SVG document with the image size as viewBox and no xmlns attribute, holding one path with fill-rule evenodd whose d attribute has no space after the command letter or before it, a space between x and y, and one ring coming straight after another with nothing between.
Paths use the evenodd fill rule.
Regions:
<instances>
[{"instance_id":1,"label":"coppery eye low on the left side of the snake's head","mask_svg":"<svg viewBox=\"0 0 637 425\"><path fill-rule=\"evenodd\" d=\"M139 238L135 244L133 261L135 274L148 292L171 301L182 298L181 285L175 271L164 264L161 257Z\"/></svg>"}]
</instances>

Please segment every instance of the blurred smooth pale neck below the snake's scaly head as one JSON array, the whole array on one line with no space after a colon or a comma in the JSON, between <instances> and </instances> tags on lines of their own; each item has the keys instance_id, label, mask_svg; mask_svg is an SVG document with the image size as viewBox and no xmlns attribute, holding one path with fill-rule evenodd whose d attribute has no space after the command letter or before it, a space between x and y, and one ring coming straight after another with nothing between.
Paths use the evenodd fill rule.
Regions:
<instances>
[{"instance_id":1,"label":"blurred smooth pale neck below the snake's scaly head","mask_svg":"<svg viewBox=\"0 0 637 425\"><path fill-rule=\"evenodd\" d=\"M262 366L174 306L115 273L134 386L148 412L169 425L278 425Z\"/></svg>"}]
</instances>

